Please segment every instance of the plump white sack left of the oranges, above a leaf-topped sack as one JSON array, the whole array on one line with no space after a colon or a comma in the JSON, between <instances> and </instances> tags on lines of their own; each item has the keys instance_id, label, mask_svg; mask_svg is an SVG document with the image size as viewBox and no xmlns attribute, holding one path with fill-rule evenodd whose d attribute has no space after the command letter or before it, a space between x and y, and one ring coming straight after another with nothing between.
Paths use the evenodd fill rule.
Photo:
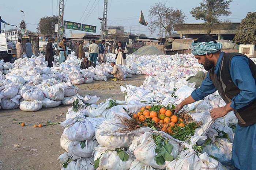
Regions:
<instances>
[{"instance_id":1,"label":"plump white sack left of the oranges, above a leaf-topped sack","mask_svg":"<svg viewBox=\"0 0 256 170\"><path fill-rule=\"evenodd\" d=\"M121 122L117 119L108 119L103 121L95 131L95 138L102 146L113 148L129 147L132 143L132 135L117 132L122 128Z\"/></svg>"}]
</instances>

